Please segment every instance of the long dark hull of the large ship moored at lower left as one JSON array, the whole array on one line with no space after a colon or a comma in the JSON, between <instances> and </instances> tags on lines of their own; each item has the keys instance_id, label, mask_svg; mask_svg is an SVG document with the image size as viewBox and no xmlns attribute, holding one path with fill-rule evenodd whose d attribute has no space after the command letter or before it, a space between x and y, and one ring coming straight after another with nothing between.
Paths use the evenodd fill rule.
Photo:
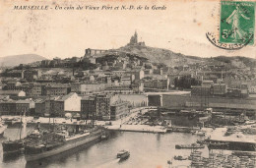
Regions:
<instances>
[{"instance_id":1,"label":"long dark hull of the large ship moored at lower left","mask_svg":"<svg viewBox=\"0 0 256 168\"><path fill-rule=\"evenodd\" d=\"M47 157L54 156L54 155L63 153L65 151L71 150L73 148L79 147L81 145L90 143L92 141L99 140L100 137L101 137L101 132L98 132L98 133L91 134L91 135L81 136L80 138L77 138L74 140L66 140L65 142L63 142L62 145L60 145L54 149L51 149L49 151L43 151L43 152L37 153L37 154L29 154L29 153L27 154L26 153L25 158L26 158L27 162L47 158Z\"/></svg>"}]
</instances>

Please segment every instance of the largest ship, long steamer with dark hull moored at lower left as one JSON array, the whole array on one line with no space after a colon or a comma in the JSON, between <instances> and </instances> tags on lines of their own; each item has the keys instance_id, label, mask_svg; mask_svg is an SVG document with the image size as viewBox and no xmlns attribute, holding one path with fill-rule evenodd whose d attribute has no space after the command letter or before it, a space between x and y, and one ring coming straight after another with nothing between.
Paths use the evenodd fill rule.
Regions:
<instances>
[{"instance_id":1,"label":"largest ship, long steamer with dark hull moored at lower left","mask_svg":"<svg viewBox=\"0 0 256 168\"><path fill-rule=\"evenodd\" d=\"M79 130L78 126L77 128ZM40 140L25 146L25 158L27 162L48 158L100 140L101 135L101 127L94 127L89 131L77 132L76 134L71 134L67 131L48 132Z\"/></svg>"}]
</instances>

